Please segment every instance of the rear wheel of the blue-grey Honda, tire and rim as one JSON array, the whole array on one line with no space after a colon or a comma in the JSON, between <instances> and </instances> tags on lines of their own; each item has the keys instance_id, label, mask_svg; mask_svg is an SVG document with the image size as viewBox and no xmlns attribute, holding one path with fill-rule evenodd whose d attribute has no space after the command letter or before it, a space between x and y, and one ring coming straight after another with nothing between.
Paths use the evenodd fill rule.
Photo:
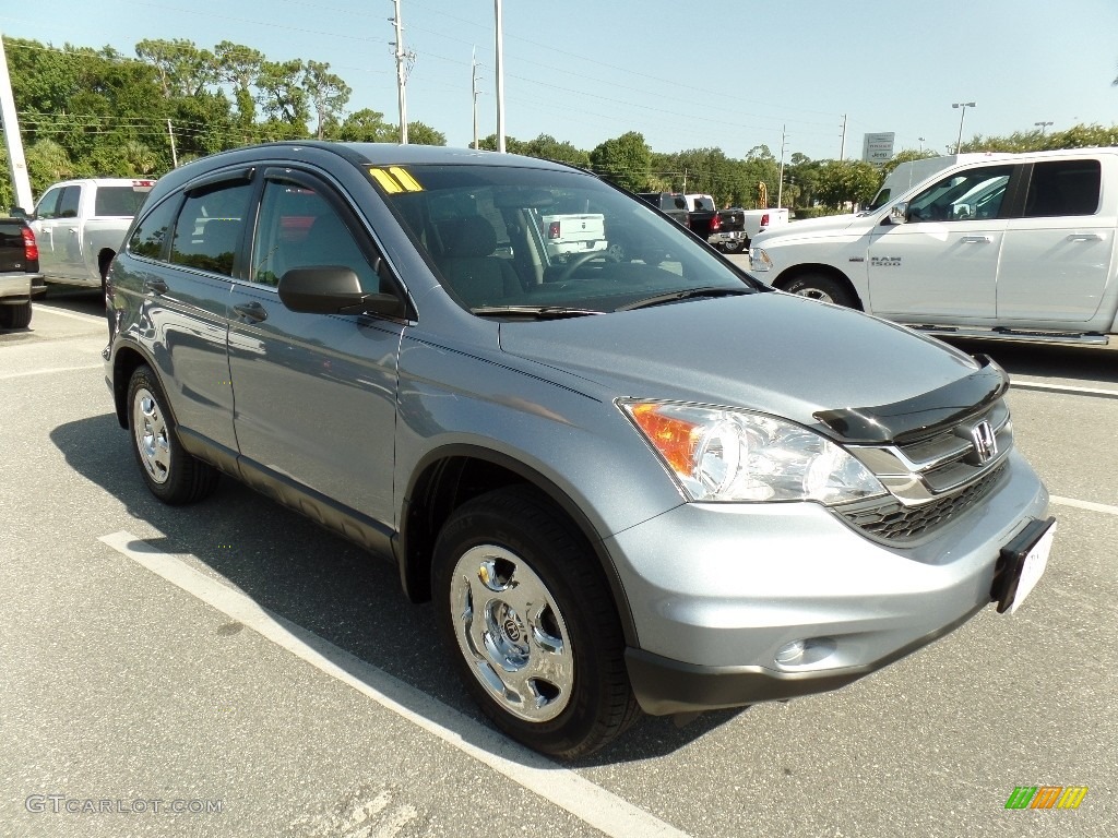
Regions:
<instances>
[{"instance_id":1,"label":"rear wheel of the blue-grey Honda, tire and rim","mask_svg":"<svg viewBox=\"0 0 1118 838\"><path fill-rule=\"evenodd\" d=\"M129 381L129 431L144 483L163 503L193 503L217 487L218 472L183 449L163 389L146 365Z\"/></svg>"}]
</instances>

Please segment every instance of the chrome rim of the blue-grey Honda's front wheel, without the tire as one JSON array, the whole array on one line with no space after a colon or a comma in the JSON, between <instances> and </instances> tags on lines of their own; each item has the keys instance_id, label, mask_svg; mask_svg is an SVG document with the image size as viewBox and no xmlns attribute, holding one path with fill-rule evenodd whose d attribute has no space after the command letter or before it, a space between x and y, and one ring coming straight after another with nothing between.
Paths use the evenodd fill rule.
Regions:
<instances>
[{"instance_id":1,"label":"chrome rim of the blue-grey Honda's front wheel, without the tire","mask_svg":"<svg viewBox=\"0 0 1118 838\"><path fill-rule=\"evenodd\" d=\"M503 710L548 722L567 706L575 667L555 597L520 556L482 544L455 563L451 609L458 648Z\"/></svg>"}]
</instances>

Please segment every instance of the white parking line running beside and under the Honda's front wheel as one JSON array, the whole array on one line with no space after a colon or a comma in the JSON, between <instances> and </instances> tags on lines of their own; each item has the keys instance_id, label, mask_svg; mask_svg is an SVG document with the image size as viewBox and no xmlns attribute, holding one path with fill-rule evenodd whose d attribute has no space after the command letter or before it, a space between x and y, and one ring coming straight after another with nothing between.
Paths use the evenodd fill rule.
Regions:
<instances>
[{"instance_id":1,"label":"white parking line running beside and under the Honda's front wheel","mask_svg":"<svg viewBox=\"0 0 1118 838\"><path fill-rule=\"evenodd\" d=\"M377 667L323 640L312 631L257 604L250 597L162 553L131 533L101 541L211 608L253 629L320 672L377 702L428 733L489 765L544 800L613 838L689 838L639 807L521 747L495 731L404 684Z\"/></svg>"}]
</instances>

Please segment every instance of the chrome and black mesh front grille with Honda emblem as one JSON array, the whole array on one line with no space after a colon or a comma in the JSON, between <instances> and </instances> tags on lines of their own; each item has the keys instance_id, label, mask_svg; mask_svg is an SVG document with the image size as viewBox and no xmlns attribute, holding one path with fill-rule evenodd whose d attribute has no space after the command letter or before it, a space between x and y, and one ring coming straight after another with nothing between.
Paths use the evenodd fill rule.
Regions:
<instances>
[{"instance_id":1,"label":"chrome and black mesh front grille with Honda emblem","mask_svg":"<svg viewBox=\"0 0 1118 838\"><path fill-rule=\"evenodd\" d=\"M996 445L988 445L991 435ZM835 511L871 537L911 544L989 494L1012 449L1013 423L1004 400L903 445L849 446L890 495Z\"/></svg>"}]
</instances>

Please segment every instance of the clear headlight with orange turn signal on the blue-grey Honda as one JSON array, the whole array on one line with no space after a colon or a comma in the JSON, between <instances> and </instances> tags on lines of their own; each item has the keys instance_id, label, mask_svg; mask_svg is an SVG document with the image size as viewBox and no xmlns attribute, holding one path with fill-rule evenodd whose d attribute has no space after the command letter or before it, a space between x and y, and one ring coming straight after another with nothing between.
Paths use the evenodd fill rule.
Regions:
<instances>
[{"instance_id":1,"label":"clear headlight with orange turn signal on the blue-grey Honda","mask_svg":"<svg viewBox=\"0 0 1118 838\"><path fill-rule=\"evenodd\" d=\"M692 501L818 501L885 494L865 466L825 437L762 413L620 402Z\"/></svg>"}]
</instances>

